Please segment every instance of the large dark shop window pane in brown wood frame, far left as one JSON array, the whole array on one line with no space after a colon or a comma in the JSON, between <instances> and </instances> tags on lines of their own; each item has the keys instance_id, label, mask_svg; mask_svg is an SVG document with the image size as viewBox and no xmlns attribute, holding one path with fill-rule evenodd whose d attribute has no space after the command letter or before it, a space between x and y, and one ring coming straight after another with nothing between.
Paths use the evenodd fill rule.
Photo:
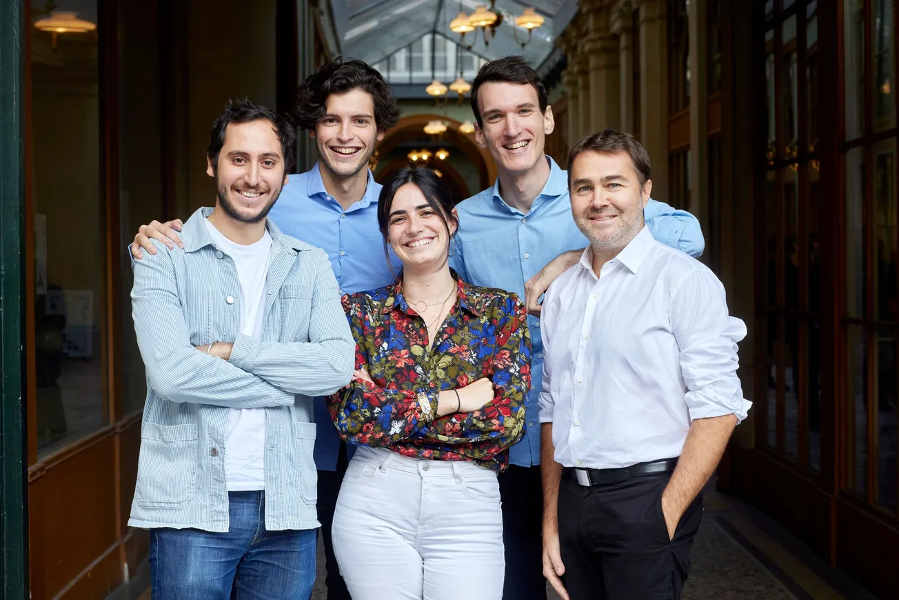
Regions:
<instances>
[{"instance_id":1,"label":"large dark shop window pane in brown wood frame, far left","mask_svg":"<svg viewBox=\"0 0 899 600\"><path fill-rule=\"evenodd\" d=\"M95 2L80 9L97 22ZM38 451L46 454L107 423L105 229L95 32L31 35L35 374ZM78 252L49 244L73 230Z\"/></svg>"}]
</instances>

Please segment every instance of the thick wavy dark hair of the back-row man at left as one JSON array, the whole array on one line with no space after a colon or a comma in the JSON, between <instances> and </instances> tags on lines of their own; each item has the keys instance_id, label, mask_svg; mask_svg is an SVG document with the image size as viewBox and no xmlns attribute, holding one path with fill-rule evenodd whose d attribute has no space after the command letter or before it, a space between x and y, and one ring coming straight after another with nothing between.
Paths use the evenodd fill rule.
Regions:
<instances>
[{"instance_id":1,"label":"thick wavy dark hair of the back-row man at left","mask_svg":"<svg viewBox=\"0 0 899 600\"><path fill-rule=\"evenodd\" d=\"M387 131L399 121L399 106L393 90L384 76L361 60L343 62L337 57L316 68L316 72L303 81L297 89L297 101L293 111L293 124L301 130L316 129L325 116L325 103L331 94L346 94L360 89L368 92L375 104L375 125L378 131Z\"/></svg>"}]
</instances>

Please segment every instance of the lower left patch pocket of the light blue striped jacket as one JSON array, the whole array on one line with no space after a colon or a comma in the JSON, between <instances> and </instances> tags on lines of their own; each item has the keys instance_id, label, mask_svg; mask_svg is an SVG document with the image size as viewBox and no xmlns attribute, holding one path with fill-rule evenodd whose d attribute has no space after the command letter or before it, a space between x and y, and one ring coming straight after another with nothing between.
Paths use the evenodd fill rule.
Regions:
<instances>
[{"instance_id":1,"label":"lower left patch pocket of the light blue striped jacket","mask_svg":"<svg viewBox=\"0 0 899 600\"><path fill-rule=\"evenodd\" d=\"M184 506L197 477L197 425L145 423L135 497L139 506Z\"/></svg>"}]
</instances>

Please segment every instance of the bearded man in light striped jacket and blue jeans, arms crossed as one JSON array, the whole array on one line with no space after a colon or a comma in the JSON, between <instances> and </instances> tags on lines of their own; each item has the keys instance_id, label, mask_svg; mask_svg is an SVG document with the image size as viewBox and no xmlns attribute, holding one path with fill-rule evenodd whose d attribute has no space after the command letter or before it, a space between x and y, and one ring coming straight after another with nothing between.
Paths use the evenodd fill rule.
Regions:
<instances>
[{"instance_id":1,"label":"bearded man in light striped jacket and blue jeans, arms crossed","mask_svg":"<svg viewBox=\"0 0 899 600\"><path fill-rule=\"evenodd\" d=\"M213 125L215 209L156 243L131 292L147 369L129 525L151 532L155 600L306 598L316 577L312 397L352 377L354 344L325 252L266 215L293 128L229 103Z\"/></svg>"}]
</instances>

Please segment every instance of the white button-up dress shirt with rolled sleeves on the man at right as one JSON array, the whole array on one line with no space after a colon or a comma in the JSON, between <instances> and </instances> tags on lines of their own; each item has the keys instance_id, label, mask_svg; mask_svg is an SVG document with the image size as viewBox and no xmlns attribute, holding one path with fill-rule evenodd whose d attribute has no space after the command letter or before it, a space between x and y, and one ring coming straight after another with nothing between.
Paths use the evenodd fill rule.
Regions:
<instances>
[{"instance_id":1,"label":"white button-up dress shirt with rolled sleeves on the man at right","mask_svg":"<svg viewBox=\"0 0 899 600\"><path fill-rule=\"evenodd\" d=\"M614 469L681 455L693 419L752 403L737 378L746 326L698 260L643 228L613 260L581 260L549 287L540 318L546 363L541 423L556 462Z\"/></svg>"}]
</instances>

